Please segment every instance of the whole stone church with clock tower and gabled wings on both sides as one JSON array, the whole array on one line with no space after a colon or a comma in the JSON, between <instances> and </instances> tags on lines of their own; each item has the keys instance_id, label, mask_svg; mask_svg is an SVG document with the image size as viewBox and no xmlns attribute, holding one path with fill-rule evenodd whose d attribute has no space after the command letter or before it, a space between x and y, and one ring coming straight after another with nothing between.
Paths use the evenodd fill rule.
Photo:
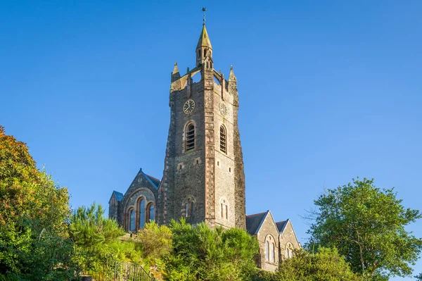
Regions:
<instances>
[{"instance_id":1,"label":"whole stone church with clock tower and gabled wings on both sides","mask_svg":"<svg viewBox=\"0 0 422 281\"><path fill-rule=\"evenodd\" d=\"M258 266L275 270L301 246L290 220L276 223L270 211L246 216L237 80L233 68L228 80L215 70L212 53L204 20L195 67L181 75L175 63L171 75L162 179L139 170L124 194L111 195L109 217L127 232L151 220L165 225L179 218L210 227L240 227L260 243ZM194 75L200 75L199 82L193 82Z\"/></svg>"}]
</instances>

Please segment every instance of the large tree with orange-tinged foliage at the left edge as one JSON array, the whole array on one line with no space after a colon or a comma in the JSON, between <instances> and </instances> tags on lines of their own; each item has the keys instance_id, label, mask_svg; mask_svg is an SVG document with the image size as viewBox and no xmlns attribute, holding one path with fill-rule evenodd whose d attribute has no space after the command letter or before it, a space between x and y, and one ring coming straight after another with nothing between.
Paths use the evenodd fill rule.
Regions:
<instances>
[{"instance_id":1,"label":"large tree with orange-tinged foliage at the left edge","mask_svg":"<svg viewBox=\"0 0 422 281\"><path fill-rule=\"evenodd\" d=\"M0 274L70 280L68 190L39 171L27 145L0 126Z\"/></svg>"}]
</instances>

